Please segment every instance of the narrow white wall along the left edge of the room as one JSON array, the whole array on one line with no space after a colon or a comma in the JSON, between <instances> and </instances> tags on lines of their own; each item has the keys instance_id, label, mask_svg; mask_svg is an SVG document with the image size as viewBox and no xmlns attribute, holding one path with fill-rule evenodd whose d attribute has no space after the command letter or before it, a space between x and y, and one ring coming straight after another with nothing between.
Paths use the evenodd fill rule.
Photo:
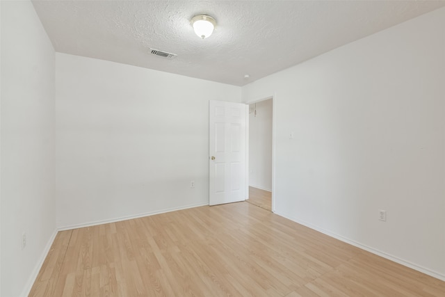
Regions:
<instances>
[{"instance_id":1,"label":"narrow white wall along the left edge of the room","mask_svg":"<svg viewBox=\"0 0 445 297\"><path fill-rule=\"evenodd\" d=\"M27 295L56 232L54 49L30 1L0 5L0 294L15 297Z\"/></svg>"}]
</instances>

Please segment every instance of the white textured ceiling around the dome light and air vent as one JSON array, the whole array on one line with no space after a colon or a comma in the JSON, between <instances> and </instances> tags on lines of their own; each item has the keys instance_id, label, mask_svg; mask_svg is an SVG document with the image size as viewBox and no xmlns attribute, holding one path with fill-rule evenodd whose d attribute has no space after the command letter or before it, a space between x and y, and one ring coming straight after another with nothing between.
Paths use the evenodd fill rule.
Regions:
<instances>
[{"instance_id":1,"label":"white textured ceiling around the dome light and air vent","mask_svg":"<svg viewBox=\"0 0 445 297\"><path fill-rule=\"evenodd\" d=\"M58 52L243 86L445 6L445 1L33 1L33 5ZM190 24L200 13L217 22L205 40ZM153 56L150 47L177 56Z\"/></svg>"}]
</instances>

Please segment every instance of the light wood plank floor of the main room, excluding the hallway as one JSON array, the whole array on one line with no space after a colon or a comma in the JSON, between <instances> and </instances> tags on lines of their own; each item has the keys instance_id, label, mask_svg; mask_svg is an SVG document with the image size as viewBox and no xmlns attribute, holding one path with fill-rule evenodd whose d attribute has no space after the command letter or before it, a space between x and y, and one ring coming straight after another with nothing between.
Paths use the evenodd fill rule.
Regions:
<instances>
[{"instance_id":1,"label":"light wood plank floor of the main room, excluding the hallway","mask_svg":"<svg viewBox=\"0 0 445 297\"><path fill-rule=\"evenodd\" d=\"M445 282L247 202L58 232L29 296L445 296Z\"/></svg>"}]
</instances>

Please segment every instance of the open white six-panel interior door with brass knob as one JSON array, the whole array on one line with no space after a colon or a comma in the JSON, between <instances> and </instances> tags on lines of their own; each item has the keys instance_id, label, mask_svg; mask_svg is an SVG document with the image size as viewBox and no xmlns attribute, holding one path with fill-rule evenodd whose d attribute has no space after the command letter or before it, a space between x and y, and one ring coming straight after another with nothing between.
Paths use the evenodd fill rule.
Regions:
<instances>
[{"instance_id":1,"label":"open white six-panel interior door with brass knob","mask_svg":"<svg viewBox=\"0 0 445 297\"><path fill-rule=\"evenodd\" d=\"M240 103L209 103L210 205L245 200L248 109Z\"/></svg>"}]
</instances>

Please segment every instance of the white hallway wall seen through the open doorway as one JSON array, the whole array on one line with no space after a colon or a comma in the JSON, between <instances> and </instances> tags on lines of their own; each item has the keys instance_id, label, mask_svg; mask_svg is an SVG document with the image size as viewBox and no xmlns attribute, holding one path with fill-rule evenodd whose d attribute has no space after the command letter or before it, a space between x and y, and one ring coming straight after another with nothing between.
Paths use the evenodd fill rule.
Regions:
<instances>
[{"instance_id":1,"label":"white hallway wall seen through the open doorway","mask_svg":"<svg viewBox=\"0 0 445 297\"><path fill-rule=\"evenodd\" d=\"M249 106L249 186L272 191L272 99Z\"/></svg>"}]
</instances>

